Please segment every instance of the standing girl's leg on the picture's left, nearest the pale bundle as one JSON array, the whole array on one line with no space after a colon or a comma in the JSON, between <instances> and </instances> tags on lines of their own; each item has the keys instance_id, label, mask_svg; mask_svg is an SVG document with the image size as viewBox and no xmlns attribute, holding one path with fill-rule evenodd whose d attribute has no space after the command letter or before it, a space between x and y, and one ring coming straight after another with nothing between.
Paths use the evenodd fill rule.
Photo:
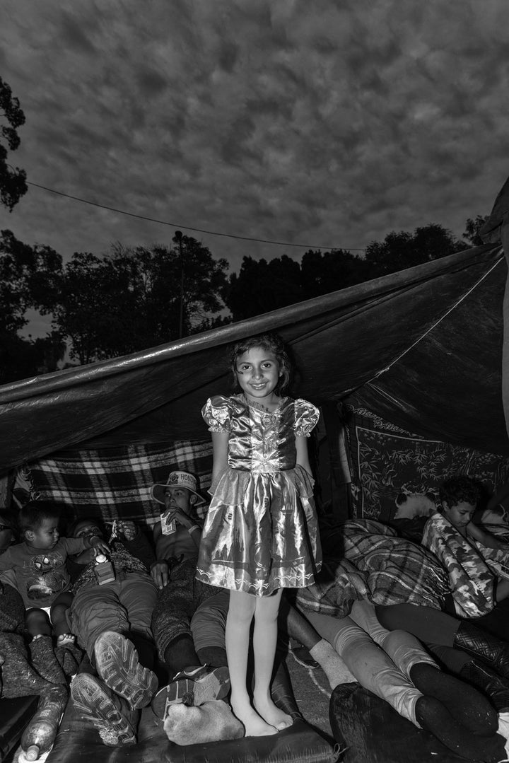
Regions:
<instances>
[{"instance_id":1,"label":"standing girl's leg on the picture's left, nearest the pale bundle","mask_svg":"<svg viewBox=\"0 0 509 763\"><path fill-rule=\"evenodd\" d=\"M228 668L230 670L230 703L234 714L246 729L246 736L268 736L269 734L276 734L277 729L266 723L256 713L250 703L246 685L250 626L255 609L256 597L241 591L230 591L230 608L225 633Z\"/></svg>"}]
</instances>

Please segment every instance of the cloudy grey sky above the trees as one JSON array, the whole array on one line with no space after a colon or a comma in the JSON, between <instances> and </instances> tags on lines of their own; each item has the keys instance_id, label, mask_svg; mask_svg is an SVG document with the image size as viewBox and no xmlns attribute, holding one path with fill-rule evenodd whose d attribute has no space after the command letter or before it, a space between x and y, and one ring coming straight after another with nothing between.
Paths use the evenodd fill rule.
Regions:
<instances>
[{"instance_id":1,"label":"cloudy grey sky above the trees","mask_svg":"<svg viewBox=\"0 0 509 763\"><path fill-rule=\"evenodd\" d=\"M66 259L180 229L232 271L461 237L509 174L508 44L507 0L2 0L8 160L101 206L30 185L0 227Z\"/></svg>"}]
</instances>

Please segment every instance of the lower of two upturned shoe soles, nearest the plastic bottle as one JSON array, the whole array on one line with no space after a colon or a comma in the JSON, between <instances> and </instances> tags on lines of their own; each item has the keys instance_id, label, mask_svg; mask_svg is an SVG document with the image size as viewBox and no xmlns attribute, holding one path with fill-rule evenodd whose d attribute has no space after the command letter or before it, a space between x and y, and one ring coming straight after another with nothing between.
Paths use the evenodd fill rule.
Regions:
<instances>
[{"instance_id":1,"label":"lower of two upturned shoe soles, nearest the plastic bottle","mask_svg":"<svg viewBox=\"0 0 509 763\"><path fill-rule=\"evenodd\" d=\"M133 727L98 678L89 673L77 675L71 684L71 697L80 716L95 726L105 745L118 747L136 742Z\"/></svg>"}]
</instances>

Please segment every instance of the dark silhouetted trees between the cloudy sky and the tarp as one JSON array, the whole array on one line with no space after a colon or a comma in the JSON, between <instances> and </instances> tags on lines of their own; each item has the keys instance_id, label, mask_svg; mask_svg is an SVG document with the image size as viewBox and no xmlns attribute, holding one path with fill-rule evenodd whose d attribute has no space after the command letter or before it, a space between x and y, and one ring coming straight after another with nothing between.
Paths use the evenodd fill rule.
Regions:
<instances>
[{"instance_id":1,"label":"dark silhouetted trees between the cloudy sky and the tarp","mask_svg":"<svg viewBox=\"0 0 509 763\"><path fill-rule=\"evenodd\" d=\"M27 191L24 170L7 163L24 114L1 78L0 109L0 203L11 211ZM50 246L2 230L0 384L54 371L65 357L82 365L135 353L465 250L481 243L484 221L469 218L462 240L438 224L393 231L364 256L347 250L308 250L300 262L244 256L231 274L226 259L180 231L170 245L114 243L101 256L76 252L64 263ZM46 337L20 336L29 310L51 316Z\"/></svg>"}]
</instances>

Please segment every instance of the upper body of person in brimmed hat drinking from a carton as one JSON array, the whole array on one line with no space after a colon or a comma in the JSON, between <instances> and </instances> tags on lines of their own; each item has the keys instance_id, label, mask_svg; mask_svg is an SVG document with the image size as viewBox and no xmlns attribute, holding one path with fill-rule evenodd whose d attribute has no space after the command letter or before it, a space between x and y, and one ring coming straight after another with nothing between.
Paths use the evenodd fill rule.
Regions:
<instances>
[{"instance_id":1,"label":"upper body of person in brimmed hat drinking from a carton","mask_svg":"<svg viewBox=\"0 0 509 763\"><path fill-rule=\"evenodd\" d=\"M164 505L160 520L153 528L157 562L152 577L158 588L168 582L169 559L193 559L198 556L201 521L195 507L205 499L196 490L196 478L189 472L170 472L166 485L153 485L150 493Z\"/></svg>"}]
</instances>

